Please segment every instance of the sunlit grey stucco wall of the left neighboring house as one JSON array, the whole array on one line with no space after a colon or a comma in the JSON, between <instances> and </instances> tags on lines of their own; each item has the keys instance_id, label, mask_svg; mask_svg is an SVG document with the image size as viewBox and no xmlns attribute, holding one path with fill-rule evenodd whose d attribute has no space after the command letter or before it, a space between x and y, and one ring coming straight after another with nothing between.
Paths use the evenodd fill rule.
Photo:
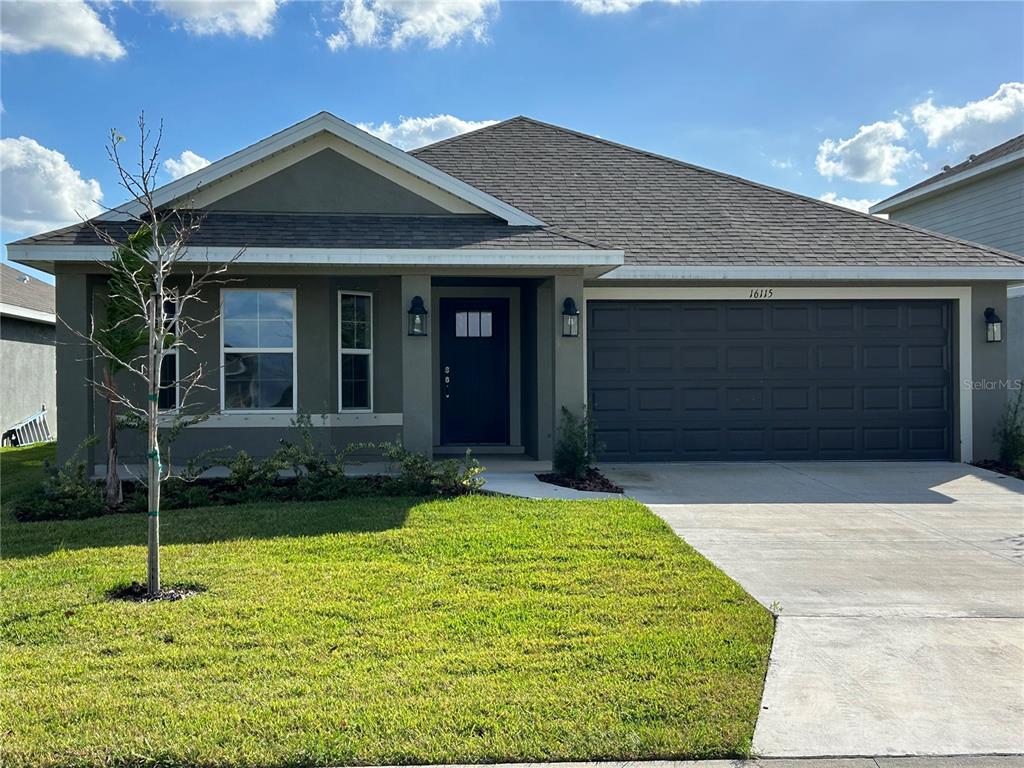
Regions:
<instances>
[{"instance_id":1,"label":"sunlit grey stucco wall of the left neighboring house","mask_svg":"<svg viewBox=\"0 0 1024 768\"><path fill-rule=\"evenodd\" d=\"M57 429L55 331L52 325L0 318L0 426L8 429L46 408L50 432Z\"/></svg>"}]
</instances>

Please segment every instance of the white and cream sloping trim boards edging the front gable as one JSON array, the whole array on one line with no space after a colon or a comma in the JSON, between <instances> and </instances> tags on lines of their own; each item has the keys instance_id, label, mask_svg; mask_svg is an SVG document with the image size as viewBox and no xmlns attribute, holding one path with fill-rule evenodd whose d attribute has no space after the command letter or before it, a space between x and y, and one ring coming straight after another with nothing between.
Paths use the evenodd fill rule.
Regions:
<instances>
[{"instance_id":1,"label":"white and cream sloping trim boards edging the front gable","mask_svg":"<svg viewBox=\"0 0 1024 768\"><path fill-rule=\"evenodd\" d=\"M427 163L417 160L412 155L402 152L396 146L392 146L386 141L382 141L350 123L346 123L341 118L329 112L321 112L313 115L311 118L307 118L283 131L279 131L264 138L262 141L257 141L255 144L251 144L244 150L221 158L205 168L201 168L169 184L159 187L154 195L154 200L159 207L184 196L193 195L201 188L210 186L215 181L236 174L255 163L266 160L319 133L328 133L343 141L347 141L364 152L370 153L384 162L390 163L400 170L454 195L486 213L503 219L510 225L540 226L544 223L534 216L516 209L514 206L479 189L475 189L470 184L454 178ZM143 213L142 207L137 202L130 202L113 211L108 211L97 218L99 220L118 220L125 218L128 213L141 214Z\"/></svg>"}]
</instances>

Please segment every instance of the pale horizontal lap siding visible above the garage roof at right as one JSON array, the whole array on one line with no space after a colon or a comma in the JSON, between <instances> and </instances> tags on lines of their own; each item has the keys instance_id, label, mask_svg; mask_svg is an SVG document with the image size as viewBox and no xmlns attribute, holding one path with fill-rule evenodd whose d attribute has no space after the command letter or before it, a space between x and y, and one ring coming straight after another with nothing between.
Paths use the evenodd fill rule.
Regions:
<instances>
[{"instance_id":1,"label":"pale horizontal lap siding visible above the garage roof at right","mask_svg":"<svg viewBox=\"0 0 1024 768\"><path fill-rule=\"evenodd\" d=\"M913 201L890 218L1024 254L1024 165Z\"/></svg>"}]
</instances>

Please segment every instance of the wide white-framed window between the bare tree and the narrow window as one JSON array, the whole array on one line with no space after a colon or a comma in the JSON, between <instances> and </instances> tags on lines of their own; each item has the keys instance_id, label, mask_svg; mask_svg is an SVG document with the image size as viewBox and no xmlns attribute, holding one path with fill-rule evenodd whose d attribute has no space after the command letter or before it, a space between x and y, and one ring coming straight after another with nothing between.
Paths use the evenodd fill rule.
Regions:
<instances>
[{"instance_id":1,"label":"wide white-framed window between the bare tree and the narrow window","mask_svg":"<svg viewBox=\"0 0 1024 768\"><path fill-rule=\"evenodd\" d=\"M295 292L224 290L225 411L295 410Z\"/></svg>"}]
</instances>

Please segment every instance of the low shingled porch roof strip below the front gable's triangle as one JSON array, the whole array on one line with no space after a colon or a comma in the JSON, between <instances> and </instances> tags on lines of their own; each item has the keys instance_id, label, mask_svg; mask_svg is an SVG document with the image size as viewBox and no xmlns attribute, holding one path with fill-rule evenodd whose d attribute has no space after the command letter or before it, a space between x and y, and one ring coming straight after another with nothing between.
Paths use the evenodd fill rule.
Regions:
<instances>
[{"instance_id":1,"label":"low shingled porch roof strip below the front gable's triangle","mask_svg":"<svg viewBox=\"0 0 1024 768\"><path fill-rule=\"evenodd\" d=\"M117 241L134 231L123 221L96 222ZM88 224L26 238L13 245L101 246L105 242ZM486 217L353 216L288 213L203 215L193 246L249 248L368 249L555 249L593 250L600 246L552 227L508 226Z\"/></svg>"}]
</instances>

